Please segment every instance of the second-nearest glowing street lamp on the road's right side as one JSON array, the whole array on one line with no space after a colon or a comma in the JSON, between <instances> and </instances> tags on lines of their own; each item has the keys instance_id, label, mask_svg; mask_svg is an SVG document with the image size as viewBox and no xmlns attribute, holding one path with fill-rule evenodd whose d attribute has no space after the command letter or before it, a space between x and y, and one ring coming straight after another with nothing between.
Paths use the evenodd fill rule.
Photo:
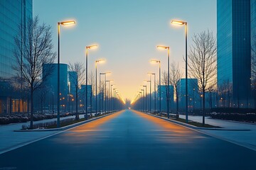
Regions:
<instances>
[{"instance_id":1,"label":"second-nearest glowing street lamp on the road's right side","mask_svg":"<svg viewBox=\"0 0 256 170\"><path fill-rule=\"evenodd\" d=\"M168 63L167 63L167 69L168 69L168 80L167 80L167 85L168 85L168 88L167 88L167 116L168 118L170 118L170 103L169 103L169 98L170 98L170 47L169 46L161 46L161 45L158 45L157 48L159 49L165 49L167 50L167 60L168 60Z\"/></svg>"}]
</instances>

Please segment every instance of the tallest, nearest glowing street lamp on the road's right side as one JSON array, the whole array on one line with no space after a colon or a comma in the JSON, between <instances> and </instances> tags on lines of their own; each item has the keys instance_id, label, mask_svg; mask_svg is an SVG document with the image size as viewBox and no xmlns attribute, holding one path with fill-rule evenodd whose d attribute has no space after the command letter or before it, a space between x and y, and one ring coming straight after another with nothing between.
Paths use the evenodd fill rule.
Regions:
<instances>
[{"instance_id":1,"label":"tallest, nearest glowing street lamp on the road's right side","mask_svg":"<svg viewBox=\"0 0 256 170\"><path fill-rule=\"evenodd\" d=\"M181 25L185 26L185 43L186 43L186 57L185 57L185 62L186 62L186 123L188 123L188 23L185 21L176 21L173 20L171 23L176 24L176 25ZM204 115L203 115L204 116ZM204 120L204 119L203 119Z\"/></svg>"}]
</instances>

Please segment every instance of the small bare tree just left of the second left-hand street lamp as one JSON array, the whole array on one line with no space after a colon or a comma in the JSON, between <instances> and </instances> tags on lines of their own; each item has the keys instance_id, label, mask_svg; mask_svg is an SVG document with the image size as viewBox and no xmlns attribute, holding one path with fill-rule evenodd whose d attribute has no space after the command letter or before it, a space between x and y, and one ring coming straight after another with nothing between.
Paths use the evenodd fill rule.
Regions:
<instances>
[{"instance_id":1,"label":"small bare tree just left of the second left-hand street lamp","mask_svg":"<svg viewBox=\"0 0 256 170\"><path fill-rule=\"evenodd\" d=\"M78 89L80 89L82 83L85 82L85 66L82 62L75 62L70 65L70 83L75 86L75 119L79 119L78 115ZM71 85L72 86L72 85Z\"/></svg>"}]
</instances>

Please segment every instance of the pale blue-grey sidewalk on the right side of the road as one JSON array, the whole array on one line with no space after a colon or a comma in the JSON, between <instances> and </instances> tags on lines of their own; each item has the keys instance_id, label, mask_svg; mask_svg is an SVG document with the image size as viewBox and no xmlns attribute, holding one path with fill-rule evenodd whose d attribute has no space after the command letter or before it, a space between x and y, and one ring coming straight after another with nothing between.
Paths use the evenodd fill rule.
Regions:
<instances>
[{"instance_id":1,"label":"pale blue-grey sidewalk on the right side of the road","mask_svg":"<svg viewBox=\"0 0 256 170\"><path fill-rule=\"evenodd\" d=\"M180 115L180 118L185 119L185 115ZM202 123L202 116L188 115L188 120ZM252 123L238 123L229 120L217 120L206 117L206 124L220 126L225 129L233 130L198 130L207 135L217 137L221 140L227 140L237 145L247 147L256 151L256 124ZM249 130L249 131L237 131Z\"/></svg>"}]
</instances>

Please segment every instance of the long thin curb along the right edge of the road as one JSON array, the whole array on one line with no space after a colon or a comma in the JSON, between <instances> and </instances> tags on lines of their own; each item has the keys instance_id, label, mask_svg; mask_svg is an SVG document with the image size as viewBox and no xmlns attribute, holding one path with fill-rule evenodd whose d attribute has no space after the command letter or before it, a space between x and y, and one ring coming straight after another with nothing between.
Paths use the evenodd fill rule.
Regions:
<instances>
[{"instance_id":1,"label":"long thin curb along the right edge of the road","mask_svg":"<svg viewBox=\"0 0 256 170\"><path fill-rule=\"evenodd\" d=\"M143 113L143 112L142 112ZM230 131L250 131L248 129L225 129L225 128L202 128L202 127L197 127L197 126L194 126L194 125L189 125L189 124L186 124L186 123L181 123L181 122L178 122L176 120L171 120L171 119L168 119L168 118L163 118L163 117L160 117L159 115L152 115L151 113L145 113L146 115L151 115L151 116L154 116L156 118L161 118L163 120L166 120L166 121L169 121L171 123L175 123L177 125L183 125L187 128L192 128L192 129L196 129L196 130L230 130Z\"/></svg>"}]
</instances>

